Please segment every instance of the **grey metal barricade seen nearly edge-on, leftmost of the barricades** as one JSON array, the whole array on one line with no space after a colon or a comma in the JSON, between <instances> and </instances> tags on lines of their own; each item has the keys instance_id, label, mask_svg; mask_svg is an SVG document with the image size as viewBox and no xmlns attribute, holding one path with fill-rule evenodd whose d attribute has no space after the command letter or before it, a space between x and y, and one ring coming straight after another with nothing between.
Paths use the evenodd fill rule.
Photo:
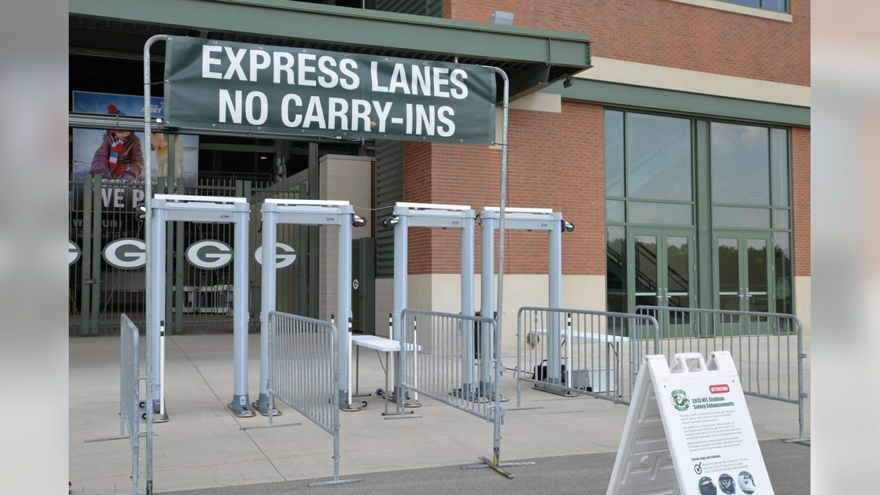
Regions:
<instances>
[{"instance_id":1,"label":"grey metal barricade seen nearly edge-on, leftmost of the barricades","mask_svg":"<svg viewBox=\"0 0 880 495\"><path fill-rule=\"evenodd\" d=\"M141 421L146 420L146 401L141 399L140 335L128 315L120 316L120 436L128 430L131 444L131 493L137 495ZM147 436L147 443L151 441ZM152 482L152 449L147 447L147 484Z\"/></svg>"}]
</instances>

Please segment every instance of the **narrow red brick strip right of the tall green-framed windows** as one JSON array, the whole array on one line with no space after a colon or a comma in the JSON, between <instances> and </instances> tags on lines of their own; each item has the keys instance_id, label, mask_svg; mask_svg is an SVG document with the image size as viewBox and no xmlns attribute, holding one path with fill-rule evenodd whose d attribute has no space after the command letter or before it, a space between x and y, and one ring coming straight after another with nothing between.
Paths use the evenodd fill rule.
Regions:
<instances>
[{"instance_id":1,"label":"narrow red brick strip right of the tall green-framed windows","mask_svg":"<svg viewBox=\"0 0 880 495\"><path fill-rule=\"evenodd\" d=\"M795 276L810 275L810 129L791 129L792 206L795 217Z\"/></svg>"}]
</instances>

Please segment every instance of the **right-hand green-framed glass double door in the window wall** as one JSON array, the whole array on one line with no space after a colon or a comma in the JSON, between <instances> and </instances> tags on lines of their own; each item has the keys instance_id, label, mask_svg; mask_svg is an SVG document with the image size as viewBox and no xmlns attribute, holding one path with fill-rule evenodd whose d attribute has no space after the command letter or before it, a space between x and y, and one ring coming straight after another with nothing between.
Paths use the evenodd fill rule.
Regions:
<instances>
[{"instance_id":1,"label":"right-hand green-framed glass double door in the window wall","mask_svg":"<svg viewBox=\"0 0 880 495\"><path fill-rule=\"evenodd\" d=\"M774 311L773 250L770 233L716 232L715 239L715 307L733 311ZM734 316L725 318L750 332L766 332L766 323L752 316L740 325ZM734 330L731 330L734 331Z\"/></svg>"}]
</instances>

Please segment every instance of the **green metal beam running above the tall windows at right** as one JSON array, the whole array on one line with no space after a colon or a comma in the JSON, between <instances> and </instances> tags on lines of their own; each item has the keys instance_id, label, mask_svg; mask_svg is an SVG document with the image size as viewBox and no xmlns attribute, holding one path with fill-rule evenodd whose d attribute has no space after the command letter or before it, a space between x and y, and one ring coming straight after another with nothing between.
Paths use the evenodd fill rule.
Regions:
<instances>
[{"instance_id":1,"label":"green metal beam running above the tall windows at right","mask_svg":"<svg viewBox=\"0 0 880 495\"><path fill-rule=\"evenodd\" d=\"M554 84L545 91L561 94L565 100L590 101L617 107L810 126L810 107L796 107L766 101L740 100L709 94L621 85L579 78L574 80L571 87Z\"/></svg>"}]
</instances>

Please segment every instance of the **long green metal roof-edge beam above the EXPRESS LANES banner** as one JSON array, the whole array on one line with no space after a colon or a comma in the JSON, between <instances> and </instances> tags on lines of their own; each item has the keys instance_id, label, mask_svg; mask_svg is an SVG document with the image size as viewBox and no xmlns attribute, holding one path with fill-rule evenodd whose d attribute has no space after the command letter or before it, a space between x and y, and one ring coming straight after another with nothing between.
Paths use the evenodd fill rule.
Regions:
<instances>
[{"instance_id":1,"label":"long green metal roof-edge beam above the EXPRESS LANES banner","mask_svg":"<svg viewBox=\"0 0 880 495\"><path fill-rule=\"evenodd\" d=\"M287 0L70 0L70 15L208 32L458 55L486 61L590 66L590 36ZM487 19L488 20L488 19ZM265 41L254 41L265 42Z\"/></svg>"}]
</instances>

